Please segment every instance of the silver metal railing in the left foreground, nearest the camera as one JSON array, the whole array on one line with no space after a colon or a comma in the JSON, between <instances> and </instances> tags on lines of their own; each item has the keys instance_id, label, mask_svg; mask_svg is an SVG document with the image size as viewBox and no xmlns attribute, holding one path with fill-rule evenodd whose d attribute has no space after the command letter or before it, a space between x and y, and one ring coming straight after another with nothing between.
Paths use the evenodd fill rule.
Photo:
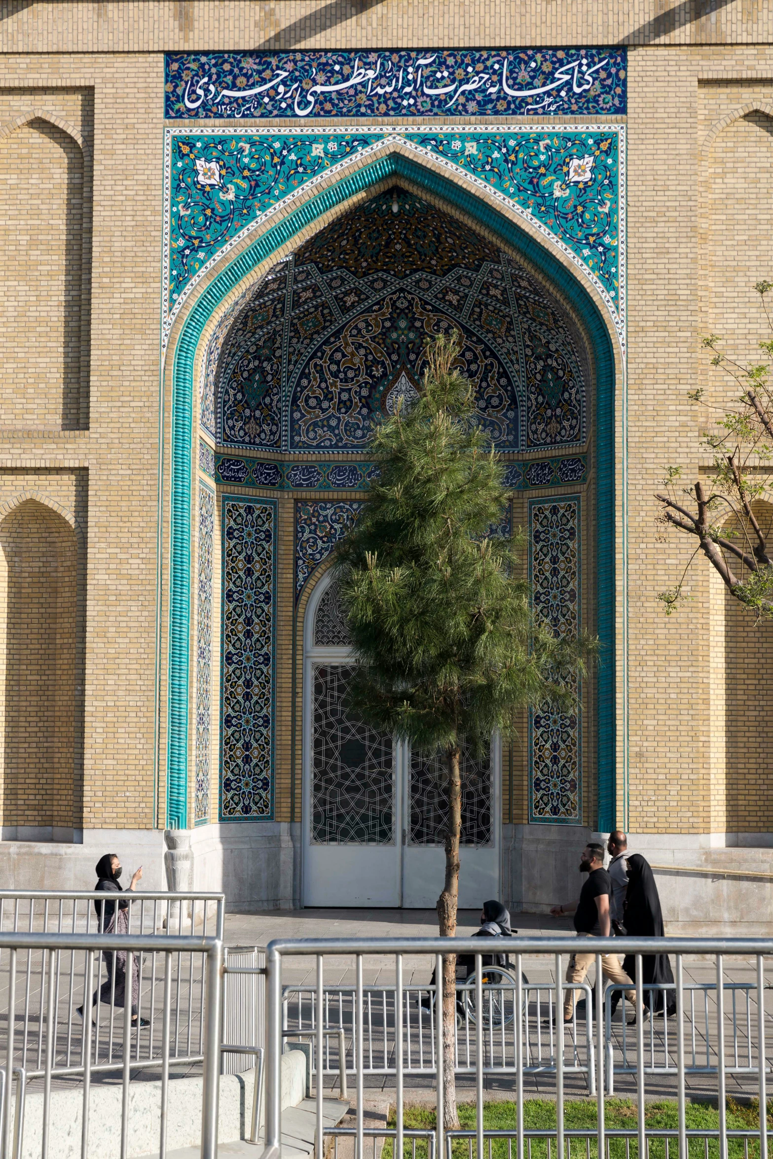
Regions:
<instances>
[{"instance_id":1,"label":"silver metal railing in the left foreground, nearest the camera","mask_svg":"<svg viewBox=\"0 0 773 1159\"><path fill-rule=\"evenodd\" d=\"M104 897L104 895L102 895ZM27 1083L32 1076L43 1079L42 1118L41 1118L41 1159L48 1159L52 1140L51 1096L52 1079L59 1076L76 1074L82 1079L82 1101L80 1103L80 1149L68 1147L72 1153L80 1153L81 1159L88 1156L92 1079L97 1072L112 1071L121 1076L121 1118L111 1122L111 1129L119 1131L119 1153L122 1159L129 1153L130 1137L130 1081L131 1071L138 1065L137 1050L143 1034L137 1025L132 1025L132 1001L123 1007L110 1006L109 1041L114 1056L109 1062L95 1062L101 1057L93 1048L96 1033L86 1033L90 1027L93 1013L93 987L99 976L101 958L108 955L112 962L119 962L123 956L125 978L132 979L137 974L134 963L144 956L153 960L153 979L158 985L159 1003L151 1003L148 1026L151 1040L153 1023L158 1030L158 1054L153 1064L161 1072L160 1103L158 1118L159 1156L166 1156L167 1111L169 1095L169 1064L173 1060L172 1043L175 1035L175 1022L180 1007L175 1007L173 993L180 982L180 962L196 962L196 975L202 979L202 1008L204 1015L200 1028L200 1054L203 1063L203 1098L202 1098L202 1159L217 1159L218 1130L218 1083L220 1069L220 996L223 971L223 942L218 938L187 934L137 934L137 933L46 933L22 932L0 933L0 960L5 963L2 986L0 987L0 1025L5 1020L6 1041L0 1057L3 1058L1 1074L0 1102L0 1159L20 1159L23 1146L24 1096ZM43 1044L41 1066L28 1071L19 1065L20 1036L17 1034L19 1015L15 1013L20 994L29 996L31 974L27 969L30 958L43 963L41 975L41 1003L37 1011L39 1021L39 1041ZM58 1060L57 1027L60 1016L58 986L60 971L58 963L67 958L73 964L75 977L82 978L83 1029L76 1036L68 1036L68 1057L65 1064ZM114 970L114 979L118 968ZM72 1000L73 987L68 989ZM114 989L115 994L115 989ZM29 1001L23 999L25 1008ZM5 1006L5 1009L3 1009ZM99 1006L97 1006L99 1009ZM5 1019L3 1019L5 1015ZM45 1034L43 1033L45 1028ZM27 1047L28 1019L23 1016L20 1025L22 1049ZM74 1041L73 1041L74 1040ZM15 1081L14 1081L15 1078ZM16 1098L14 1099L14 1088ZM28 1100L29 1105L29 1100ZM60 1140L59 1140L60 1142Z\"/></svg>"}]
</instances>

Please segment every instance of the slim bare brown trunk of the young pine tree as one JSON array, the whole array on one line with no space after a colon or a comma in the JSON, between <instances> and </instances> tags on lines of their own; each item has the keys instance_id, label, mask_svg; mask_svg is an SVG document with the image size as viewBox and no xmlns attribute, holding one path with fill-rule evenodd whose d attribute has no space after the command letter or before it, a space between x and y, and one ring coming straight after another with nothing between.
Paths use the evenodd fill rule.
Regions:
<instances>
[{"instance_id":1,"label":"slim bare brown trunk of the young pine tree","mask_svg":"<svg viewBox=\"0 0 773 1159\"><path fill-rule=\"evenodd\" d=\"M445 882L438 897L440 938L457 936L459 905L459 840L461 836L461 775L459 748L446 752L449 767L449 829L445 837ZM443 1101L449 1130L459 1130L457 1081L453 1071L457 1030L457 955L443 957Z\"/></svg>"}]
</instances>

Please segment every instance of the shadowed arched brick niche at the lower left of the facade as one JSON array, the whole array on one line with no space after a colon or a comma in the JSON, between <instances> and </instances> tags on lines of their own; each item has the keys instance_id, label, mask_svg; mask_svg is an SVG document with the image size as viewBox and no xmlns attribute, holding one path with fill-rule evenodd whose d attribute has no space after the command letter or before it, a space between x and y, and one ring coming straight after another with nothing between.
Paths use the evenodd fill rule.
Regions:
<instances>
[{"instance_id":1,"label":"shadowed arched brick niche at the lower left of the facade","mask_svg":"<svg viewBox=\"0 0 773 1159\"><path fill-rule=\"evenodd\" d=\"M83 809L78 541L27 500L0 524L0 547L3 837L66 840L64 829L72 840Z\"/></svg>"}]
</instances>

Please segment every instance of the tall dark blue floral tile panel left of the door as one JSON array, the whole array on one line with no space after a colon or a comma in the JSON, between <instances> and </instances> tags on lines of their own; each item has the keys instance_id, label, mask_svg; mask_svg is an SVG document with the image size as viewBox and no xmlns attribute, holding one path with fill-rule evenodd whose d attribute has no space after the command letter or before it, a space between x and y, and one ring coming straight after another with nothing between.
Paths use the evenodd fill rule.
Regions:
<instances>
[{"instance_id":1,"label":"tall dark blue floral tile panel left of the door","mask_svg":"<svg viewBox=\"0 0 773 1159\"><path fill-rule=\"evenodd\" d=\"M274 815L277 501L223 496L220 819Z\"/></svg>"}]
</instances>

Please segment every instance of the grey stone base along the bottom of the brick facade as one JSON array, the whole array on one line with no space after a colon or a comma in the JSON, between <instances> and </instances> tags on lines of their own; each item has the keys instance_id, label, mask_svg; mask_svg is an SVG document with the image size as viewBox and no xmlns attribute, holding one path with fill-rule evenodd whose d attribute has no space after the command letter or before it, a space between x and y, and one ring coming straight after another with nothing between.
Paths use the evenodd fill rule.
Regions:
<instances>
[{"instance_id":1,"label":"grey stone base along the bottom of the brick facade","mask_svg":"<svg viewBox=\"0 0 773 1159\"><path fill-rule=\"evenodd\" d=\"M575 901L579 854L599 837L606 840L581 825L573 834L564 825L505 825L502 881L511 911L547 914ZM655 868L666 934L773 935L770 833L632 833L628 847ZM298 823L207 825L167 832L166 840L161 830L130 829L75 831L61 841L3 839L0 880L19 890L90 890L103 853L118 854L126 883L141 865L147 891L224 892L231 913L302 907Z\"/></svg>"}]
</instances>

